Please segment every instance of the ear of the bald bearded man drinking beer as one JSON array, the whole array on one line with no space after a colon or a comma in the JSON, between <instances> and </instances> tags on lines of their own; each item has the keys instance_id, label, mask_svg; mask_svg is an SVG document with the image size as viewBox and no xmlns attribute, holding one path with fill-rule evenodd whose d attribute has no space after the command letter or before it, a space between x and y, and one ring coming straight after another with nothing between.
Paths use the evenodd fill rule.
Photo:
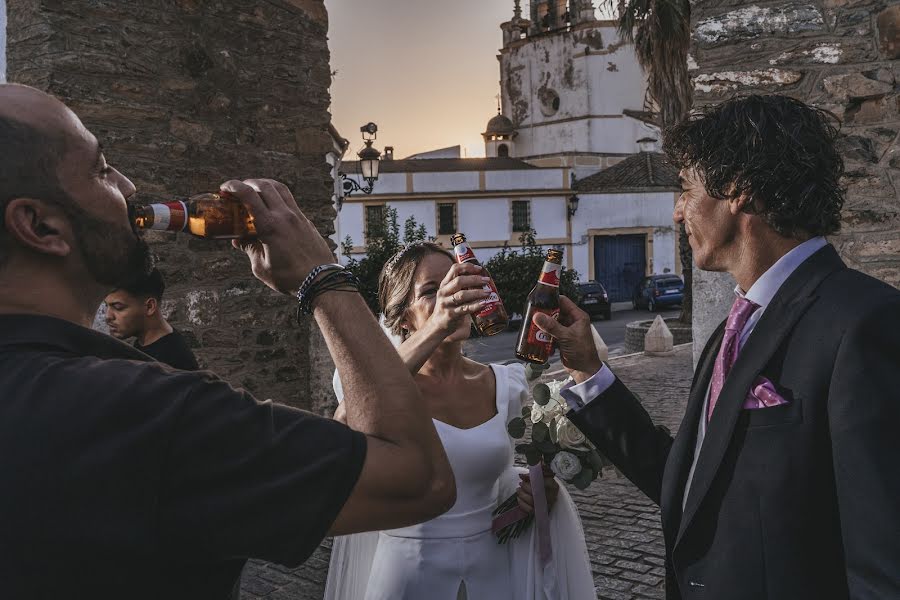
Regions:
<instances>
[{"instance_id":1,"label":"ear of the bald bearded man drinking beer","mask_svg":"<svg viewBox=\"0 0 900 600\"><path fill-rule=\"evenodd\" d=\"M4 217L8 234L26 248L59 257L72 252L68 219L46 202L15 198L6 205Z\"/></svg>"}]
</instances>

